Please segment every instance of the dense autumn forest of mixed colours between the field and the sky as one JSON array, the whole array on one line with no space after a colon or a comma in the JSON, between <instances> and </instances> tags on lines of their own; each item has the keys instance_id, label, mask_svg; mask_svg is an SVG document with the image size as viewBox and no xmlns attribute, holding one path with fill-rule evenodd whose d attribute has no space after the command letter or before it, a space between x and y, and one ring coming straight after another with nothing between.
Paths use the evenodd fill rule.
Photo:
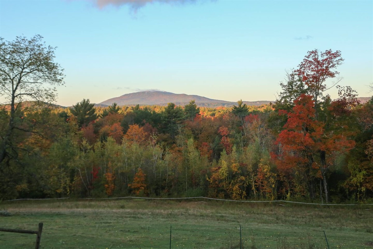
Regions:
<instances>
[{"instance_id":1,"label":"dense autumn forest of mixed colours between the field and the sky","mask_svg":"<svg viewBox=\"0 0 373 249\"><path fill-rule=\"evenodd\" d=\"M192 197L372 202L373 97L315 49L270 105L53 105L63 70L41 36L0 40L0 200ZM325 93L338 90L338 98ZM373 90L373 85L367 91ZM243 98L245 96L242 96ZM32 101L26 101L32 100Z\"/></svg>"}]
</instances>

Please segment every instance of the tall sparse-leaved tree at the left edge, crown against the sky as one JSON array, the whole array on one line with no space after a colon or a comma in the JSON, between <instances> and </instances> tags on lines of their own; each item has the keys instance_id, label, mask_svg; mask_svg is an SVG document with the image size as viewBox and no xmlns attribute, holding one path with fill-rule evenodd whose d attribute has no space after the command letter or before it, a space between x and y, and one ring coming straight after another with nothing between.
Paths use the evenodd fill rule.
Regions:
<instances>
[{"instance_id":1,"label":"tall sparse-leaved tree at the left edge, crown against the sky","mask_svg":"<svg viewBox=\"0 0 373 249\"><path fill-rule=\"evenodd\" d=\"M10 104L9 122L0 137L0 162L17 155L12 153L17 147L11 141L16 130L25 130L16 117L21 102L53 102L55 87L64 84L63 69L54 62L55 48L42 40L40 35L16 37L14 41L0 38L0 95Z\"/></svg>"}]
</instances>

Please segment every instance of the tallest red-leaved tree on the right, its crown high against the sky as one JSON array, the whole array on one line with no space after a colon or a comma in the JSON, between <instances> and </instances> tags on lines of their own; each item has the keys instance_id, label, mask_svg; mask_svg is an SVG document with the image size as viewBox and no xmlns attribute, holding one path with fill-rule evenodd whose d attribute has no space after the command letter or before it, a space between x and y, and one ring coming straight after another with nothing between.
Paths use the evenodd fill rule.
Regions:
<instances>
[{"instance_id":1,"label":"tallest red-leaved tree on the right, its crown high against the sky","mask_svg":"<svg viewBox=\"0 0 373 249\"><path fill-rule=\"evenodd\" d=\"M291 154L299 156L300 152L303 153L300 158L303 158L304 162L298 162L298 164L308 165L308 169L318 168L320 170L327 201L329 200L327 171L333 165L331 159L335 159L337 154L348 152L354 144L348 138L351 136L349 133L351 129L346 121L349 119L349 108L357 104L355 91L350 87L337 86L338 99L332 101L328 95L323 96L326 90L334 87L341 80L337 78L329 87L326 85L328 80L338 76L339 72L336 68L343 61L339 50L336 52L332 50L320 52L317 49L308 51L297 69L288 74L287 82L280 84L283 91L276 102L275 113L288 113L288 115L279 115L279 118L272 115L270 119L272 126L279 129L278 142L282 146L279 154L286 155L284 142L288 138L289 144L300 147L298 149L294 147ZM313 112L309 109L310 105L314 109ZM305 113L308 113L308 116L305 116ZM295 118L297 115L298 118ZM298 130L294 130L297 126L295 124L300 125ZM280 131L282 125L285 129ZM303 138L299 136L300 134L303 134ZM291 138L291 136L294 137ZM298 141L298 144L295 141ZM309 143L304 144L306 141ZM348 142L351 143L347 144ZM284 153L282 149L285 149ZM334 156L331 153L333 150ZM294 159L294 157L290 158ZM290 158L288 160L291 161Z\"/></svg>"}]
</instances>

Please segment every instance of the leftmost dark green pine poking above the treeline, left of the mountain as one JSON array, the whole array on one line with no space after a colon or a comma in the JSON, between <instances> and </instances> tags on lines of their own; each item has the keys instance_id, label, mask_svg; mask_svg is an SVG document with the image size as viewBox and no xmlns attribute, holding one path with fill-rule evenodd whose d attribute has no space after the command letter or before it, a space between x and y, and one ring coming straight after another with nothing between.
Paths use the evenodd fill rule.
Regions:
<instances>
[{"instance_id":1,"label":"leftmost dark green pine poking above the treeline, left of the mountain","mask_svg":"<svg viewBox=\"0 0 373 249\"><path fill-rule=\"evenodd\" d=\"M89 99L83 99L73 105L70 112L76 117L79 127L84 127L97 118L94 104L90 103Z\"/></svg>"}]
</instances>

